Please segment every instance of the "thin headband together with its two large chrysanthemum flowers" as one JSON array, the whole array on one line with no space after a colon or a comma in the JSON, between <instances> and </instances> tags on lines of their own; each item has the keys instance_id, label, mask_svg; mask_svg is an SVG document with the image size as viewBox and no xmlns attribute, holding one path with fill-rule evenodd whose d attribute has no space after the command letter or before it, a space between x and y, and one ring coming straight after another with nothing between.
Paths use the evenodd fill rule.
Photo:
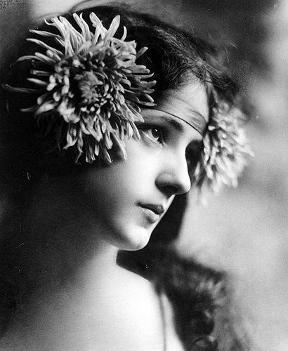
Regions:
<instances>
[{"instance_id":1,"label":"thin headband together with its two large chrysanthemum flowers","mask_svg":"<svg viewBox=\"0 0 288 351\"><path fill-rule=\"evenodd\" d=\"M117 145L126 159L126 138L140 138L137 121L143 121L140 105L153 108L151 98L156 81L153 74L136 60L147 48L136 51L135 41L125 41L126 28L121 39L114 37L119 28L119 15L108 29L103 27L95 13L90 14L94 31L82 18L73 14L79 29L64 17L52 18L46 25L54 30L30 30L55 46L39 39L27 39L45 53L34 52L18 61L32 65L27 78L35 88L15 88L4 84L8 91L30 93L37 98L36 105L22 112L32 112L37 123L44 126L44 135L53 134L55 149L72 147L76 157L82 153L87 162L101 157L111 162L109 150ZM159 110L174 114L188 123L178 111L166 110L164 100L157 102ZM237 185L237 177L246 164L247 146L239 121L240 110L228 103L215 104L209 121L201 115L189 118L189 124L203 135L203 150L193 170L192 180L199 189L203 185L218 190L221 185ZM187 116L186 116L187 117Z\"/></svg>"}]
</instances>

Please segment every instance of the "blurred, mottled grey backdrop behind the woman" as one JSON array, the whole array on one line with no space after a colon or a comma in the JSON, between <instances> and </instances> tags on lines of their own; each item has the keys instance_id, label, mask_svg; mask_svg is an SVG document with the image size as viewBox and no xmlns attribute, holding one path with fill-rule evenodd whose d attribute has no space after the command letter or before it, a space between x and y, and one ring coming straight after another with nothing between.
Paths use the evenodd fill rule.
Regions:
<instances>
[{"instance_id":1,"label":"blurred, mottled grey backdrop behind the woman","mask_svg":"<svg viewBox=\"0 0 288 351\"><path fill-rule=\"evenodd\" d=\"M1 77L7 58L17 57L18 43L32 23L77 3L0 1ZM178 247L184 255L196 255L233 273L237 298L252 326L254 350L288 350L288 1L130 0L125 4L225 44L230 52L229 66L241 85L255 156L236 190L209 196L206 206L191 194Z\"/></svg>"}]
</instances>

